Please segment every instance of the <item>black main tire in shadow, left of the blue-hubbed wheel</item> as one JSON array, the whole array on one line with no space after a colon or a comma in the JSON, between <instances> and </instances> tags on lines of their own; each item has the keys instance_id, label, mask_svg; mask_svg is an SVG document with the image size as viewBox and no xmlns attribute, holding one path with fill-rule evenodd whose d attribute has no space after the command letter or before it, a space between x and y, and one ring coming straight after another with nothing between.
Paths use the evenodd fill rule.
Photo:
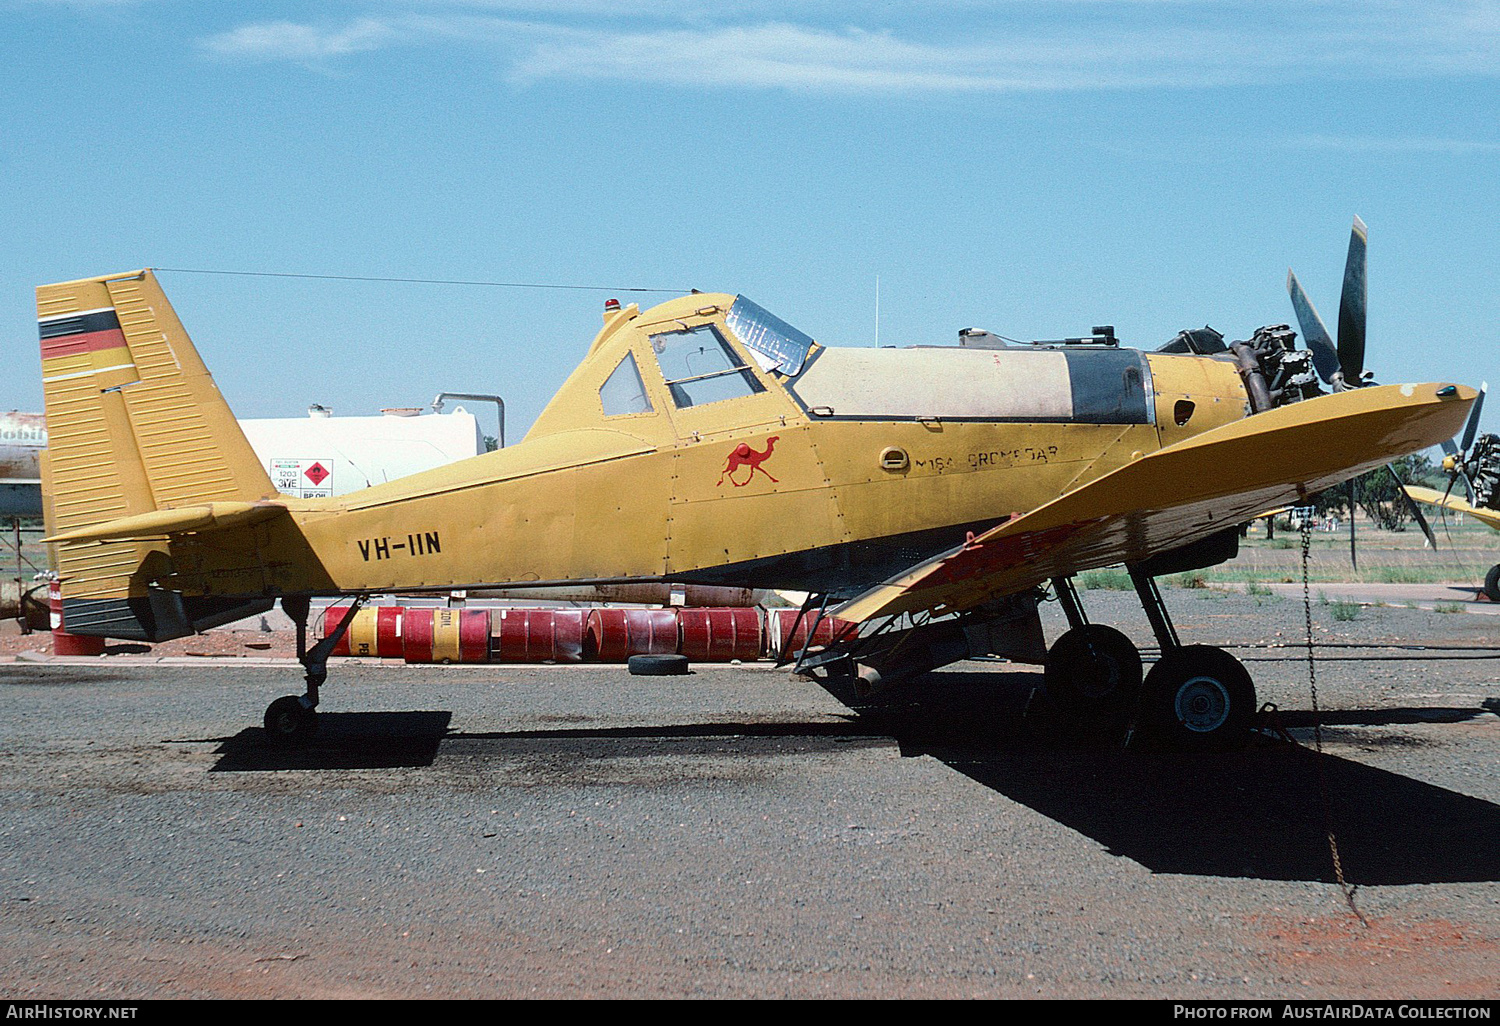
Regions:
<instances>
[{"instance_id":1,"label":"black main tire in shadow, left of the blue-hubbed wheel","mask_svg":"<svg viewBox=\"0 0 1500 1026\"><path fill-rule=\"evenodd\" d=\"M1140 651L1104 624L1074 627L1047 652L1047 698L1064 716L1084 723L1118 723L1140 700Z\"/></svg>"}]
</instances>

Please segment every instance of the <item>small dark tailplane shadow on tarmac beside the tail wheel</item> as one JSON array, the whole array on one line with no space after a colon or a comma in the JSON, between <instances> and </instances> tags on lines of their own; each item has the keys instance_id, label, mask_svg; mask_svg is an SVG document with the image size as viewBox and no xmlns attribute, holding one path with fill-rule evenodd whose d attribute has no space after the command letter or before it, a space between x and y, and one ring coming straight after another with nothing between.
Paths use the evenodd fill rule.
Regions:
<instances>
[{"instance_id":1,"label":"small dark tailplane shadow on tarmac beside the tail wheel","mask_svg":"<svg viewBox=\"0 0 1500 1026\"><path fill-rule=\"evenodd\" d=\"M430 766L452 718L452 712L320 712L318 734L297 747L268 744L266 730L246 728L219 746L210 771Z\"/></svg>"}]
</instances>

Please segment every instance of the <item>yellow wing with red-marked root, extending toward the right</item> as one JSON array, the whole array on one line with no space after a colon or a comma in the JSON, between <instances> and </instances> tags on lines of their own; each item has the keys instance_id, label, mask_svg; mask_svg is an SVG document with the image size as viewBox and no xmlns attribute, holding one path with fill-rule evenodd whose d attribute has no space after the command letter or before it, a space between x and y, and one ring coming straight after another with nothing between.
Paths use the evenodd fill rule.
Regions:
<instances>
[{"instance_id":1,"label":"yellow wing with red-marked root, extending toward the right","mask_svg":"<svg viewBox=\"0 0 1500 1026\"><path fill-rule=\"evenodd\" d=\"M1446 394L1444 394L1446 393ZM1452 438L1473 388L1378 386L1270 410L1144 454L832 609L956 612L1239 525Z\"/></svg>"}]
</instances>

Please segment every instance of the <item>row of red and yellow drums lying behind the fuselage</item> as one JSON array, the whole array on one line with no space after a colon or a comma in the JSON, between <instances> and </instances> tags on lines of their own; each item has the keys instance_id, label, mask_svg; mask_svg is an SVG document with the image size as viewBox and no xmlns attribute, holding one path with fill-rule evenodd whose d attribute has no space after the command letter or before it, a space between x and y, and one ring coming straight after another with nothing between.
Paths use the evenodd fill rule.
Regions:
<instances>
[{"instance_id":1,"label":"row of red and yellow drums lying behind the fuselage","mask_svg":"<svg viewBox=\"0 0 1500 1026\"><path fill-rule=\"evenodd\" d=\"M327 638L348 606L328 606ZM408 663L624 663L632 656L681 654L694 663L776 658L808 644L813 616L795 609L447 609L366 606L334 656ZM794 632L795 628L795 632ZM854 626L825 616L812 638L826 645Z\"/></svg>"}]
</instances>

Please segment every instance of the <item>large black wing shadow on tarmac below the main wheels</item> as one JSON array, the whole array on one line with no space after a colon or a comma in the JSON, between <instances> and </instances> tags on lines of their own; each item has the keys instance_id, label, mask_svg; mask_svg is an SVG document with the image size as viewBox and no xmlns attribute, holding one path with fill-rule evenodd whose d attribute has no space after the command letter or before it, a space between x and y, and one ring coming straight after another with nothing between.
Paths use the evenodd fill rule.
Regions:
<instances>
[{"instance_id":1,"label":"large black wing shadow on tarmac below the main wheels","mask_svg":"<svg viewBox=\"0 0 1500 1026\"><path fill-rule=\"evenodd\" d=\"M1184 754L1038 736L1023 718L1041 675L934 675L918 708L868 712L909 756L956 771L1156 873L1334 880L1324 826L1338 838L1350 884L1500 880L1500 806L1284 741L1242 752ZM984 684L975 681L980 676ZM1017 678L1028 686L1017 690ZM1485 706L1324 712L1341 726L1456 723ZM1310 712L1281 714L1311 726ZM1359 734L1370 747L1414 750L1413 734ZM1322 784L1320 784L1322 777Z\"/></svg>"}]
</instances>

